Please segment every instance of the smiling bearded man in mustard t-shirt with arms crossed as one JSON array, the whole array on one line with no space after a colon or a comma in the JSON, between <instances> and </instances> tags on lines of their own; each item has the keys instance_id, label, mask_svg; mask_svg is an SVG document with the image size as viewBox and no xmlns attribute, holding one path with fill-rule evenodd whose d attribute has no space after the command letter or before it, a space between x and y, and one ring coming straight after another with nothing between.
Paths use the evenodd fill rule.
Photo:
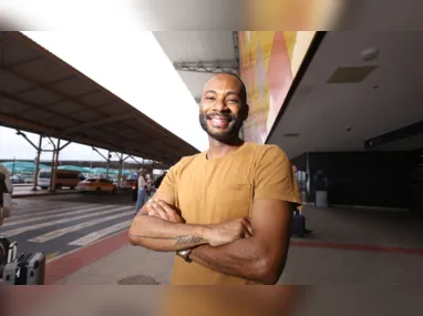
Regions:
<instances>
[{"instance_id":1,"label":"smiling bearded man in mustard t-shirt with arms crossed","mask_svg":"<svg viewBox=\"0 0 423 316\"><path fill-rule=\"evenodd\" d=\"M205 84L208 151L174 165L130 228L133 245L176 252L174 285L276 284L283 271L297 181L280 147L239 139L246 99L235 74Z\"/></svg>"}]
</instances>

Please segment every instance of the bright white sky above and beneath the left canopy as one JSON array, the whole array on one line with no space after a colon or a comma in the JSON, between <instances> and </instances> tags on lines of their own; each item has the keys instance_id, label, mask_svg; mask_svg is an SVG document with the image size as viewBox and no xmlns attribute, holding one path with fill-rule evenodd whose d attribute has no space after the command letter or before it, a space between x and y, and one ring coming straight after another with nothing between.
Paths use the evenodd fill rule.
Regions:
<instances>
[{"instance_id":1,"label":"bright white sky above and beneath the left canopy","mask_svg":"<svg viewBox=\"0 0 423 316\"><path fill-rule=\"evenodd\" d=\"M152 32L23 33L199 151L207 149L207 136L198 123L198 105ZM38 135L27 135L38 144ZM52 149L48 139L43 147ZM32 160L35 154L14 130L0 126L0 159ZM41 156L50 159L51 153ZM90 146L79 144L65 147L60 159L102 160Z\"/></svg>"}]
</instances>

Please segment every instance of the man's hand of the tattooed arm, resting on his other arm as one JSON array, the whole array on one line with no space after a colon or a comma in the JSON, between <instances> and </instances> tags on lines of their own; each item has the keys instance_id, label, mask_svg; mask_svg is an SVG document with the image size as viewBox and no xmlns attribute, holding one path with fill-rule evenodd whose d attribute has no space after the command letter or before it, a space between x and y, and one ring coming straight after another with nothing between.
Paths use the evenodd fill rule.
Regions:
<instances>
[{"instance_id":1,"label":"man's hand of the tattooed arm, resting on his other arm","mask_svg":"<svg viewBox=\"0 0 423 316\"><path fill-rule=\"evenodd\" d=\"M236 218L219 224L208 225L205 238L213 247L223 246L241 238L252 236L249 218Z\"/></svg>"}]
</instances>

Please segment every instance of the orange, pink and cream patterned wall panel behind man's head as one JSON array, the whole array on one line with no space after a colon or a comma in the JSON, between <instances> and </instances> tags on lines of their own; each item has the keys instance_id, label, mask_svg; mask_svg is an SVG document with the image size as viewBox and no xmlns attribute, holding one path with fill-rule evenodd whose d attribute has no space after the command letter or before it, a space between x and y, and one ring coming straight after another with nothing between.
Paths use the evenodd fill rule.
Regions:
<instances>
[{"instance_id":1,"label":"orange, pink and cream patterned wall panel behind man's head","mask_svg":"<svg viewBox=\"0 0 423 316\"><path fill-rule=\"evenodd\" d=\"M250 114L244 139L264 143L314 32L239 32L240 75Z\"/></svg>"}]
</instances>

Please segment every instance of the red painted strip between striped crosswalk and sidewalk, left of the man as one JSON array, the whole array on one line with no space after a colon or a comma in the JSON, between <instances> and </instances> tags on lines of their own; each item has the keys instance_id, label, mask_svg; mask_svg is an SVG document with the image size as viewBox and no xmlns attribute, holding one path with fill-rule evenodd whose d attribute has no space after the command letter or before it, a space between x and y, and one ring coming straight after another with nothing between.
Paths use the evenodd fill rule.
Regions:
<instances>
[{"instance_id":1,"label":"red painted strip between striped crosswalk and sidewalk, left of the man","mask_svg":"<svg viewBox=\"0 0 423 316\"><path fill-rule=\"evenodd\" d=\"M45 285L52 285L60 279L109 256L123 246L130 245L127 230L103 238L91 245L74 249L47 263Z\"/></svg>"}]
</instances>

